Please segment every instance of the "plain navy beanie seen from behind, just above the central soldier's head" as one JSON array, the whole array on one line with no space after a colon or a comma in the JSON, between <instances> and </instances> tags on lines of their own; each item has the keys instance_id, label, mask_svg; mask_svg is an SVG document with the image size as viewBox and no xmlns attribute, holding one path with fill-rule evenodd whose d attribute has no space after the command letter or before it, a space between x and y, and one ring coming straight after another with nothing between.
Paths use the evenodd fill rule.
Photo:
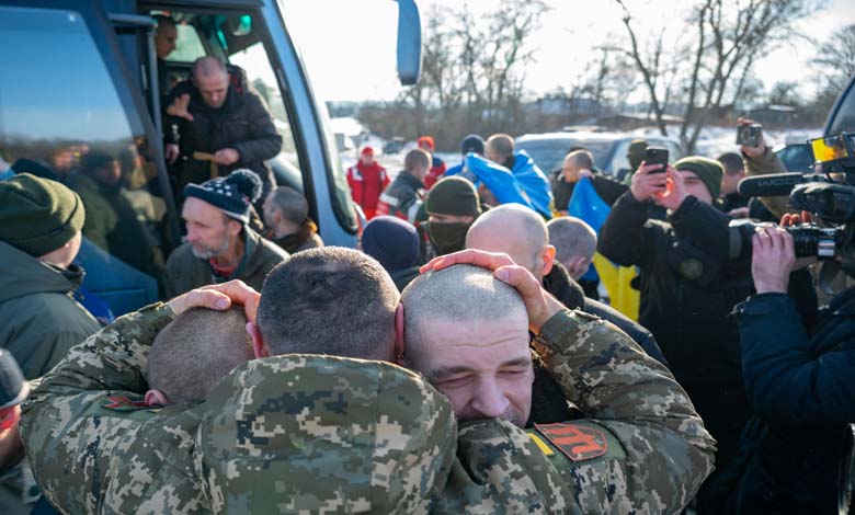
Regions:
<instances>
[{"instance_id":1,"label":"plain navy beanie seen from behind, just above the central soldier's head","mask_svg":"<svg viewBox=\"0 0 855 515\"><path fill-rule=\"evenodd\" d=\"M419 261L419 233L400 218L378 216L362 231L362 250L387 272L409 268Z\"/></svg>"}]
</instances>

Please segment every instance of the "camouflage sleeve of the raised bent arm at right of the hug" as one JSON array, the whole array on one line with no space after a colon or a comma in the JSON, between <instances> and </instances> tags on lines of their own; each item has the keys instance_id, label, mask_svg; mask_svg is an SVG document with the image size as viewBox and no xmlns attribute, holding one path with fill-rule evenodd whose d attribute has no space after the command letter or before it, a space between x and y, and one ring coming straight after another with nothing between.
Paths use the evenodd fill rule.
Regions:
<instances>
[{"instance_id":1,"label":"camouflage sleeve of the raised bent arm at right of the hug","mask_svg":"<svg viewBox=\"0 0 855 515\"><path fill-rule=\"evenodd\" d=\"M549 319L535 348L567 399L590 417L585 425L622 447L622 470L608 472L612 478L602 477L602 467L580 470L584 460L567 462L577 467L575 476L590 473L589 481L608 483L583 489L586 483L573 479L585 513L684 507L713 470L715 440L671 373L617 328L579 311Z\"/></svg>"}]
</instances>

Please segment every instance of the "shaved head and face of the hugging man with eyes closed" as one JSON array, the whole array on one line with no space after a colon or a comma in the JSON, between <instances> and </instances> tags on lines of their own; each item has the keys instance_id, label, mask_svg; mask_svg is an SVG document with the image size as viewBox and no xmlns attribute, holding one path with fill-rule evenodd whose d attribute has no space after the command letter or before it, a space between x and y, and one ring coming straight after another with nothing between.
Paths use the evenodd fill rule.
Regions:
<instances>
[{"instance_id":1,"label":"shaved head and face of the hugging man with eyes closed","mask_svg":"<svg viewBox=\"0 0 855 515\"><path fill-rule=\"evenodd\" d=\"M534 373L515 289L490 271L456 265L417 277L401 302L404 362L448 397L459 420L525 424Z\"/></svg>"}]
</instances>

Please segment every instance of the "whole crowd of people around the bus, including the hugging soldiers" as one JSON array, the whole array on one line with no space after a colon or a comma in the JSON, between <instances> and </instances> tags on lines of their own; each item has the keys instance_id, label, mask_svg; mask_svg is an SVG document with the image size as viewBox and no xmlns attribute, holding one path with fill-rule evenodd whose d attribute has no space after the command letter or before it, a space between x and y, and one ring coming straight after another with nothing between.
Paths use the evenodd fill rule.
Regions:
<instances>
[{"instance_id":1,"label":"whole crowd of people around the bus, including the hugging soldiers","mask_svg":"<svg viewBox=\"0 0 855 515\"><path fill-rule=\"evenodd\" d=\"M818 309L793 237L732 224L809 218L739 194L784 170L762 138L668 164L636 140L623 176L585 148L544 172L508 134L451 168L423 136L397 175L364 147L358 248L324 247L241 71L191 73L162 88L168 255L141 254L109 156L0 180L3 513L848 510L853 290ZM604 220L569 216L585 188ZM159 263L163 301L113 317L84 240ZM637 317L601 299L597 254L638 271Z\"/></svg>"}]
</instances>

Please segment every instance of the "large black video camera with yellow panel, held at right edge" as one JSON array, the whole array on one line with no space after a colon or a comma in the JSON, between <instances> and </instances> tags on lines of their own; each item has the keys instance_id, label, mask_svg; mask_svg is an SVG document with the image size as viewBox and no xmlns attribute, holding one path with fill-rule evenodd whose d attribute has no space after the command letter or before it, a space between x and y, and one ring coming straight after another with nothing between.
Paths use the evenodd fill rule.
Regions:
<instances>
[{"instance_id":1,"label":"large black video camera with yellow panel, held at right edge","mask_svg":"<svg viewBox=\"0 0 855 515\"><path fill-rule=\"evenodd\" d=\"M809 140L816 173L775 173L743 179L743 196L789 195L798 210L809 211L817 222L787 227L796 255L820 260L843 258L843 267L855 275L855 133ZM742 224L742 249L763 225Z\"/></svg>"}]
</instances>

